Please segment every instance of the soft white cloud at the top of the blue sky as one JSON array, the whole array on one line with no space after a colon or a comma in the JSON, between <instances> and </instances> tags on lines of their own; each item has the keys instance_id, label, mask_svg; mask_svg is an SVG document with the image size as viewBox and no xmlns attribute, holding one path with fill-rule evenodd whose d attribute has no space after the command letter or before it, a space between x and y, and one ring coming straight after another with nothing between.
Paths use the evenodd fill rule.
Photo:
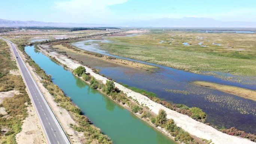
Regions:
<instances>
[{"instance_id":1,"label":"soft white cloud at the top of the blue sky","mask_svg":"<svg viewBox=\"0 0 256 144\"><path fill-rule=\"evenodd\" d=\"M67 15L68 18L83 19L82 21L90 22L111 22L115 17L108 6L125 3L128 0L70 0L58 1L55 3L54 9ZM72 17L73 16L73 17ZM77 21L79 22L79 20ZM102 22L101 22L102 23Z\"/></svg>"}]
</instances>

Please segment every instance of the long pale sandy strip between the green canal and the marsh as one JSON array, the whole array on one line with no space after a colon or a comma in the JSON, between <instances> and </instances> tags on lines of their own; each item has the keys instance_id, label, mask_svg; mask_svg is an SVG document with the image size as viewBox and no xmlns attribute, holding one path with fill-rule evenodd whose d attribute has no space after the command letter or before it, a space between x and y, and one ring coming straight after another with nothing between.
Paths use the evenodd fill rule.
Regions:
<instances>
[{"instance_id":1,"label":"long pale sandy strip between the green canal and the marsh","mask_svg":"<svg viewBox=\"0 0 256 144\"><path fill-rule=\"evenodd\" d=\"M78 62L68 59L66 56L58 55L55 52L48 53L45 50L43 50L43 52L55 57L58 61L67 65L71 69L75 69L78 66L80 66L80 64ZM95 77L95 79L100 80L103 83L106 83L106 81L107 81L106 77L103 77L103 76L100 76L99 74L94 73L88 67L85 67L85 68L88 73L90 73L92 76ZM254 143L248 139L245 139L245 138L240 138L240 137L235 137L235 136L231 136L228 134L224 134L220 131L217 131L216 129L214 129L211 126L205 125L204 123L201 123L201 122L198 122L198 121L192 119L189 116L183 115L183 114L178 113L173 110L170 110L161 104L153 102L146 96L138 94L136 92L133 92L130 89L127 89L118 83L115 83L115 85L117 88L119 88L125 94L127 94L127 96L131 96L133 99L137 99L137 101L140 104L144 104L145 106L149 107L153 113L158 114L158 111L160 109L165 110L167 113L168 119L173 119L176 122L177 126L181 127L185 131L189 132L192 135L195 135L198 138L212 140L214 144L256 144L256 143Z\"/></svg>"}]
</instances>

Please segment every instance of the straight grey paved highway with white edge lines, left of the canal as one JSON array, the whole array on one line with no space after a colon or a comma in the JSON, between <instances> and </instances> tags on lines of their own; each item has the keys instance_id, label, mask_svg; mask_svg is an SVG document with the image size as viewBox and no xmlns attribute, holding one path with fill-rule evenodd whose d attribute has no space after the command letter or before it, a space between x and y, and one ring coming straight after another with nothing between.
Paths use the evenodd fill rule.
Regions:
<instances>
[{"instance_id":1,"label":"straight grey paved highway with white edge lines, left of the canal","mask_svg":"<svg viewBox=\"0 0 256 144\"><path fill-rule=\"evenodd\" d=\"M0 37L0 39L3 38ZM21 56L19 55L15 45L13 45L13 43L9 40L3 40L10 43L10 46L12 47L13 53L16 57L16 61L19 65L19 70L21 71L22 77L25 80L25 84L31 96L31 101L39 117L39 121L46 137L46 141L48 142L48 144L70 144L67 136L65 135L63 129L58 123L58 120L56 119L54 113L46 102L42 92L39 90L39 87L31 76L30 71L28 71L28 68L26 67Z\"/></svg>"}]
</instances>

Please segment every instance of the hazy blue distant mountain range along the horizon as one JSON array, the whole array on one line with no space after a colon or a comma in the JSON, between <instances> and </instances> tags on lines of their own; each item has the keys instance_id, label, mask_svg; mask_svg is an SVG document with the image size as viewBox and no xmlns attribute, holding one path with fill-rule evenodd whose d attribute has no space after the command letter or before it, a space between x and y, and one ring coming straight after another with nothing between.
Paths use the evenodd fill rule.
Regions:
<instances>
[{"instance_id":1,"label":"hazy blue distant mountain range along the horizon","mask_svg":"<svg viewBox=\"0 0 256 144\"><path fill-rule=\"evenodd\" d=\"M41 21L12 21L0 19L0 27L244 27L255 28L256 22L230 21L223 22L212 18L159 18L145 21L128 21L120 24L73 24Z\"/></svg>"}]
</instances>

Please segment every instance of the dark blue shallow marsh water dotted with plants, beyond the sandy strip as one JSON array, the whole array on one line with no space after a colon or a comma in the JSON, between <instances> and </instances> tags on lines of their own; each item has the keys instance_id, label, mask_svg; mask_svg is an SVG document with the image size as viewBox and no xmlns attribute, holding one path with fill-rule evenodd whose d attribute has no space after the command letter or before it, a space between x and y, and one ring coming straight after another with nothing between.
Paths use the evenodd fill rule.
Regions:
<instances>
[{"instance_id":1,"label":"dark blue shallow marsh water dotted with plants, beyond the sandy strip","mask_svg":"<svg viewBox=\"0 0 256 144\"><path fill-rule=\"evenodd\" d=\"M72 45L107 56L153 65L157 67L155 72L122 65L103 65L89 61L88 64L86 63L99 69L100 74L111 77L116 82L153 92L166 101L185 104L189 107L199 107L207 114L206 123L209 122L218 128L230 128L233 126L256 134L255 101L192 84L193 81L206 81L256 90L255 77L233 76L219 72L213 72L216 74L214 76L195 74L134 59L122 58L98 48L97 43L99 42L110 41L85 40L72 43Z\"/></svg>"}]
</instances>

